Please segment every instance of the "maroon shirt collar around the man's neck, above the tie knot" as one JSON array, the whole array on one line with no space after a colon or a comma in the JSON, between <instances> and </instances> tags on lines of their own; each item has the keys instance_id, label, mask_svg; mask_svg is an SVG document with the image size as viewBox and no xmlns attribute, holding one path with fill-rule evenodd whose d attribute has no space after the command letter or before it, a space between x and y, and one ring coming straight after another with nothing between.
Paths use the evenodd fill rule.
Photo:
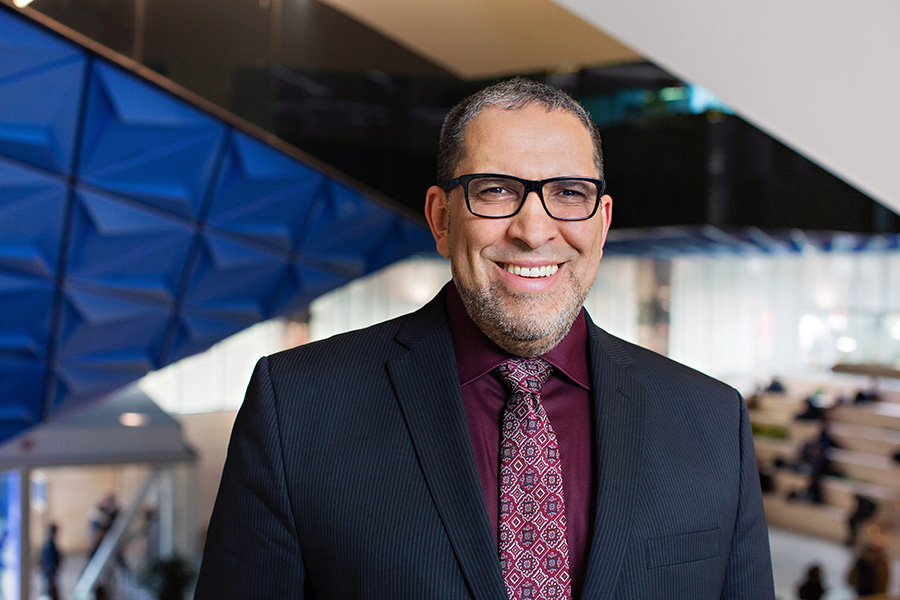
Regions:
<instances>
[{"instance_id":1,"label":"maroon shirt collar around the man's neck, above the tie knot","mask_svg":"<svg viewBox=\"0 0 900 600\"><path fill-rule=\"evenodd\" d=\"M490 373L513 355L491 341L469 318L452 281L447 284L445 295L456 368L459 372L459 383L463 386ZM587 320L582 308L569 333L541 358L565 374L576 385L589 390L587 342Z\"/></svg>"}]
</instances>

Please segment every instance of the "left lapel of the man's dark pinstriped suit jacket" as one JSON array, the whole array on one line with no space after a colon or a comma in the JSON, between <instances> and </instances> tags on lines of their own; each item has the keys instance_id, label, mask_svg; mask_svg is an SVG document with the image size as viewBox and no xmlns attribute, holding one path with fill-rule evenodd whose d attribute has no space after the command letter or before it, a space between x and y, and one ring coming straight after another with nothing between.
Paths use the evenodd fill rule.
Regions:
<instances>
[{"instance_id":1,"label":"left lapel of the man's dark pinstriped suit jacket","mask_svg":"<svg viewBox=\"0 0 900 600\"><path fill-rule=\"evenodd\" d=\"M410 315L388 373L450 543L475 598L506 599L469 437L443 294Z\"/></svg>"}]
</instances>

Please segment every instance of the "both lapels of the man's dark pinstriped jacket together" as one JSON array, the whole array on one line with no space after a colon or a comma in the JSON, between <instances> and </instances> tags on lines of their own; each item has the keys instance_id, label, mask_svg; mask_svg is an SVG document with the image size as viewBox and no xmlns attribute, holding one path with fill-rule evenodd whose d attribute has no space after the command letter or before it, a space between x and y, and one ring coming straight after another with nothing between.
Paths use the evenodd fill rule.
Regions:
<instances>
[{"instance_id":1,"label":"both lapels of the man's dark pinstriped jacket together","mask_svg":"<svg viewBox=\"0 0 900 600\"><path fill-rule=\"evenodd\" d=\"M588 317L597 504L583 599L612 600L640 480L645 390L628 374L627 345ZM506 600L447 323L443 293L397 333L408 349L388 362L391 382L432 499L475 598ZM452 460L447 460L452 457Z\"/></svg>"}]
</instances>

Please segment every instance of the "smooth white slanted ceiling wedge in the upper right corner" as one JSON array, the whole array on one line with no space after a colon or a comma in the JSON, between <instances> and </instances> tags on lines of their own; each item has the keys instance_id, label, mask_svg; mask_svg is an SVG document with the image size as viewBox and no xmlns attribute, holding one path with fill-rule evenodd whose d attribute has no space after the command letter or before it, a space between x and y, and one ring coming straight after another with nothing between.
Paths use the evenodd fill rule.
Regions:
<instances>
[{"instance_id":1,"label":"smooth white slanted ceiling wedge in the upper right corner","mask_svg":"<svg viewBox=\"0 0 900 600\"><path fill-rule=\"evenodd\" d=\"M558 2L900 214L900 3Z\"/></svg>"}]
</instances>

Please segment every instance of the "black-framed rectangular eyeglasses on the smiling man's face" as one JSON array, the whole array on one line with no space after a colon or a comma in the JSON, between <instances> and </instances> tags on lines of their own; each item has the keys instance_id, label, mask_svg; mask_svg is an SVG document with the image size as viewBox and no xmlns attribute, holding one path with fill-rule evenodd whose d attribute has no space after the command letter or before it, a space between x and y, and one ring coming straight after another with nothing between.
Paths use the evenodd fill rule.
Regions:
<instances>
[{"instance_id":1,"label":"black-framed rectangular eyeglasses on the smiling man's face","mask_svg":"<svg viewBox=\"0 0 900 600\"><path fill-rule=\"evenodd\" d=\"M460 175L441 187L462 186L466 206L476 217L504 219L521 210L525 198L536 192L544 210L559 221L584 221L597 212L606 183L590 177L551 177L533 181L512 175L473 173Z\"/></svg>"}]
</instances>

